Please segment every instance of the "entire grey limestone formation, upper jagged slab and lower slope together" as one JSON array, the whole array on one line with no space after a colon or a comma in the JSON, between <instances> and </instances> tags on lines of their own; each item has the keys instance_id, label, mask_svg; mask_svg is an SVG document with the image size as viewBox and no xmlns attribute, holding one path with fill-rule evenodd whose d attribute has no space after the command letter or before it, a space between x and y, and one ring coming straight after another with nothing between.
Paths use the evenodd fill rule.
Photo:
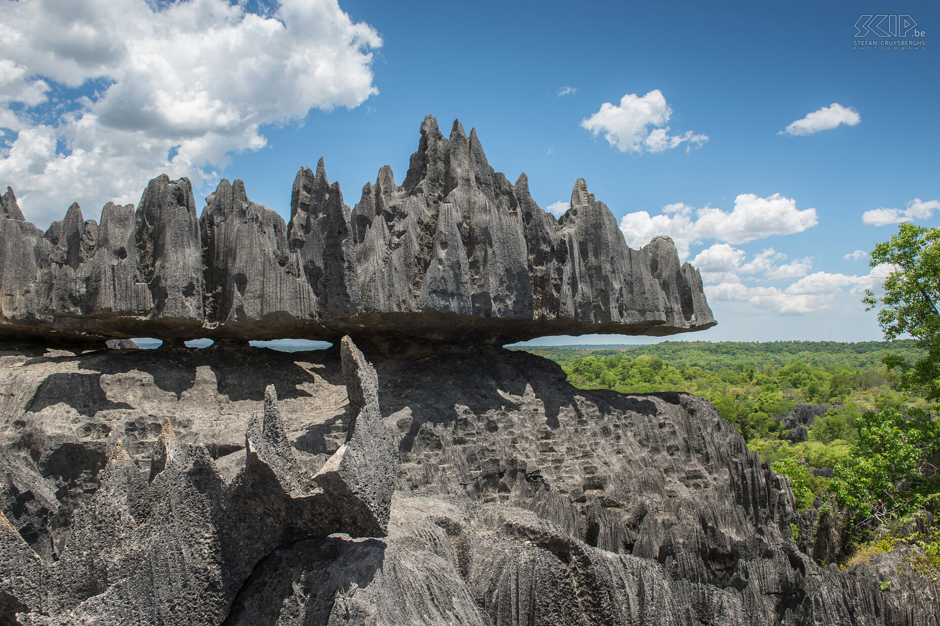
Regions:
<instances>
[{"instance_id":1,"label":"entire grey limestone formation, upper jagged slab and lower slope together","mask_svg":"<svg viewBox=\"0 0 940 626\"><path fill-rule=\"evenodd\" d=\"M287 221L166 176L0 208L0 626L937 626L896 552L818 565L838 524L711 403L498 347L714 320L671 240L581 179L556 220L459 122L352 209L322 161ZM337 345L247 345L285 336Z\"/></svg>"}]
</instances>

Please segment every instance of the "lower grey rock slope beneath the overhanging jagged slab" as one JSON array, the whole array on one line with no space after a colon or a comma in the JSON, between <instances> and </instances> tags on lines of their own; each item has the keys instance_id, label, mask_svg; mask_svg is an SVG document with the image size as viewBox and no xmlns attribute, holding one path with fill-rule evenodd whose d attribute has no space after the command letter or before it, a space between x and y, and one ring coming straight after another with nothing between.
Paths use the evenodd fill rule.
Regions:
<instances>
[{"instance_id":1,"label":"lower grey rock slope beneath the overhanging jagged slab","mask_svg":"<svg viewBox=\"0 0 940 626\"><path fill-rule=\"evenodd\" d=\"M940 614L896 554L816 565L788 479L691 396L467 346L0 358L0 624Z\"/></svg>"}]
</instances>

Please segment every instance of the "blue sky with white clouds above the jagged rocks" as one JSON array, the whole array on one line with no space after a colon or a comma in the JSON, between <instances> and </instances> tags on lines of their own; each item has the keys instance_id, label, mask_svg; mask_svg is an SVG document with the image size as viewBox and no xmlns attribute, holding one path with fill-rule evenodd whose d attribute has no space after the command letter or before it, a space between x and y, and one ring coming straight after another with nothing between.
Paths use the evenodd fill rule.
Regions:
<instances>
[{"instance_id":1,"label":"blue sky with white clouds above the jagged rocks","mask_svg":"<svg viewBox=\"0 0 940 626\"><path fill-rule=\"evenodd\" d=\"M938 226L934 3L0 1L18 38L0 52L0 184L39 227L71 200L86 218L136 202L160 171L201 195L243 179L289 217L321 156L352 206L382 165L403 180L426 114L459 117L543 208L583 177L628 243L685 242L719 325L679 338L852 341L881 336L858 291L883 274L846 255L897 228L863 215ZM926 47L854 51L879 12ZM823 107L817 132L785 132ZM602 340L635 341L576 341Z\"/></svg>"}]
</instances>

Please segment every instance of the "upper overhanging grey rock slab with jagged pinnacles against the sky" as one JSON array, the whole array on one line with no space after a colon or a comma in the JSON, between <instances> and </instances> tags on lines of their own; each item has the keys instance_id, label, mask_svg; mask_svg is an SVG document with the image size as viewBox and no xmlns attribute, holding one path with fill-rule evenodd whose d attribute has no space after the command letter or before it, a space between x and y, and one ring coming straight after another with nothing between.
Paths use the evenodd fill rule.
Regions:
<instances>
[{"instance_id":1,"label":"upper overhanging grey rock slab with jagged pinnacles against the sky","mask_svg":"<svg viewBox=\"0 0 940 626\"><path fill-rule=\"evenodd\" d=\"M101 223L73 204L41 233L11 190L0 219L0 336L59 344L153 336L510 342L671 335L714 325L701 277L665 237L624 242L578 179L560 220L525 174L493 171L476 131L433 117L399 186L387 165L351 210L322 160L290 221L222 180L201 216L188 179L150 180Z\"/></svg>"}]
</instances>

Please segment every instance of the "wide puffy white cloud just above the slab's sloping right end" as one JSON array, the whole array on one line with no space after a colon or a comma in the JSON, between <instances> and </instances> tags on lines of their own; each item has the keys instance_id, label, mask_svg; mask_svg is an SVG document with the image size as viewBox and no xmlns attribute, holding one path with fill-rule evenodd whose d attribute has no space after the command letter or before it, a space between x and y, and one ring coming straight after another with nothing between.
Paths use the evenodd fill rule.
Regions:
<instances>
[{"instance_id":1,"label":"wide puffy white cloud just above the slab's sloping right end","mask_svg":"<svg viewBox=\"0 0 940 626\"><path fill-rule=\"evenodd\" d=\"M668 235L676 243L680 258L689 256L689 246L706 239L725 243L748 243L772 235L803 232L819 223L815 209L798 210L796 201L775 194L759 197L742 194L730 212L704 207L695 209L676 203L663 207L663 214L647 211L627 213L620 230L633 248L640 248L656 235Z\"/></svg>"}]
</instances>

